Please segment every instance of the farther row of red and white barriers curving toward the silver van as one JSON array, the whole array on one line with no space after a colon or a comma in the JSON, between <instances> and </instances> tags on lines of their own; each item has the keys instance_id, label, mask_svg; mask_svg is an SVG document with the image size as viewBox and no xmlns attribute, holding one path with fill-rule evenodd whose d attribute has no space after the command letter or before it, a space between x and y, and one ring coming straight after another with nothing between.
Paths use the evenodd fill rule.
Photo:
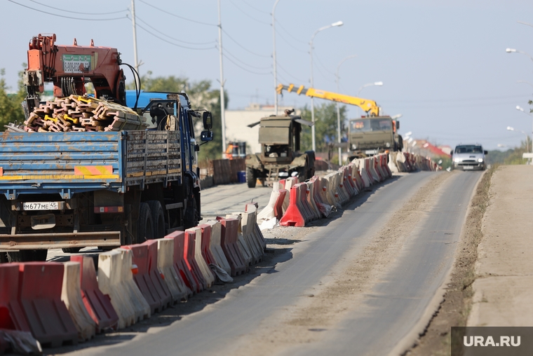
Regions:
<instances>
[{"instance_id":1,"label":"farther row of red and white barriers curving toward the silver van","mask_svg":"<svg viewBox=\"0 0 533 356\"><path fill-rule=\"evenodd\" d=\"M276 182L267 207L257 219L276 218L281 226L302 227L328 217L363 189L391 178L393 172L439 168L430 158L407 152L356 158L325 177L314 176L301 183L297 177L290 177Z\"/></svg>"}]
</instances>

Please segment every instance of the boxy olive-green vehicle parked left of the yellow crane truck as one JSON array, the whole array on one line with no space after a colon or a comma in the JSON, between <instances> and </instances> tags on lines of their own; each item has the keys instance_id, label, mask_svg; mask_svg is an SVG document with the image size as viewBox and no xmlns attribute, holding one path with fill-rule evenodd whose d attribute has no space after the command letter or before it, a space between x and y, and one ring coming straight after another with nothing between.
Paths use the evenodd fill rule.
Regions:
<instances>
[{"instance_id":1,"label":"boxy olive-green vehicle parked left of the yellow crane truck","mask_svg":"<svg viewBox=\"0 0 533 356\"><path fill-rule=\"evenodd\" d=\"M257 179L271 185L279 179L297 176L299 182L315 174L315 152L300 153L302 125L313 123L300 116L292 116L294 109L285 110L284 116L268 116L249 128L259 125L259 144L262 151L246 156L246 182L255 188Z\"/></svg>"}]
</instances>

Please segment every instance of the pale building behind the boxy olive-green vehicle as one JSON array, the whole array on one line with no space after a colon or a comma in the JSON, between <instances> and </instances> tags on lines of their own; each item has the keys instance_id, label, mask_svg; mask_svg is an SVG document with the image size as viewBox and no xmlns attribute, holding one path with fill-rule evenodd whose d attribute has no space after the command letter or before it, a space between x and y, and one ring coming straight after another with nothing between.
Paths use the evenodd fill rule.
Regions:
<instances>
[{"instance_id":1,"label":"pale building behind the boxy olive-green vehicle","mask_svg":"<svg viewBox=\"0 0 533 356\"><path fill-rule=\"evenodd\" d=\"M278 115L283 115L285 109L293 107L279 107ZM296 115L301 114L296 111ZM246 153L261 151L259 144L259 125L248 128L251 123L257 123L261 118L274 115L274 105L250 104L244 110L226 110L226 144L228 142L246 142Z\"/></svg>"}]
</instances>

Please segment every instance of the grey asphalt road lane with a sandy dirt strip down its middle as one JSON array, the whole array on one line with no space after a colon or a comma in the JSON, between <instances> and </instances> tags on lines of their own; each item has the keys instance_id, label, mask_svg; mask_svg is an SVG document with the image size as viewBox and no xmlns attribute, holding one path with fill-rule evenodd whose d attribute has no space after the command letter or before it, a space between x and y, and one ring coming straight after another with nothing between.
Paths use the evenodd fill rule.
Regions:
<instances>
[{"instance_id":1,"label":"grey asphalt road lane with a sandy dirt strip down its middle","mask_svg":"<svg viewBox=\"0 0 533 356\"><path fill-rule=\"evenodd\" d=\"M336 213L337 219L301 228L302 242L276 254L271 268L220 301L168 326L115 335L114 345L57 351L151 356L401 352L436 308L435 296L452 266L480 176L417 172L395 177L360 194ZM229 189L213 197L225 194L243 203L259 192L242 187L243 196ZM233 209L217 204L207 210ZM282 228L277 231L283 235Z\"/></svg>"}]
</instances>

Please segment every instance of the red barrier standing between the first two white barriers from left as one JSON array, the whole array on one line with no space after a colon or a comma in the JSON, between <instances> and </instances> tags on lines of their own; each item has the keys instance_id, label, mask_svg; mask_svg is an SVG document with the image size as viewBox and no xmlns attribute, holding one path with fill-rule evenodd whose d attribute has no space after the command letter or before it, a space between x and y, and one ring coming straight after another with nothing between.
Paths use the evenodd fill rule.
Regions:
<instances>
[{"instance_id":1,"label":"red barrier standing between the first two white barriers from left","mask_svg":"<svg viewBox=\"0 0 533 356\"><path fill-rule=\"evenodd\" d=\"M90 317L96 323L96 332L116 329L119 324L119 315L116 314L109 295L102 294L98 287L94 260L88 256L72 256L70 261L81 265L81 297Z\"/></svg>"}]
</instances>

